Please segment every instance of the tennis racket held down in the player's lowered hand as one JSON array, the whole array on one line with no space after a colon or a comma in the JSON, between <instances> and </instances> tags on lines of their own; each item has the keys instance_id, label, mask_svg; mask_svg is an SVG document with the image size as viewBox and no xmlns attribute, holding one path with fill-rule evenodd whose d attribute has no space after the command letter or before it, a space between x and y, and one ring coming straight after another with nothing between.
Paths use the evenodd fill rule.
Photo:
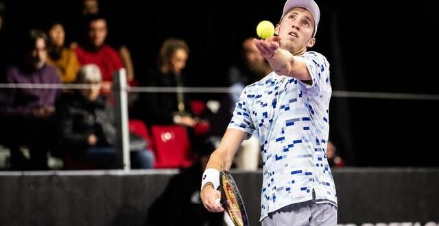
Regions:
<instances>
[{"instance_id":1,"label":"tennis racket held down in the player's lowered hand","mask_svg":"<svg viewBox=\"0 0 439 226\"><path fill-rule=\"evenodd\" d=\"M221 199L217 205L222 205L235 226L248 226L248 217L241 194L232 175L228 171L219 173L219 191Z\"/></svg>"}]
</instances>

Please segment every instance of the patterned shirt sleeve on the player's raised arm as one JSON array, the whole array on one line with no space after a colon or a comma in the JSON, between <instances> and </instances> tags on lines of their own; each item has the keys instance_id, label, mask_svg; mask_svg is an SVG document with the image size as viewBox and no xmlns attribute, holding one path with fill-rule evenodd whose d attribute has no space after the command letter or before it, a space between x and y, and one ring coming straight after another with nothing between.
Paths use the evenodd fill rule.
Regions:
<instances>
[{"instance_id":1,"label":"patterned shirt sleeve on the player's raised arm","mask_svg":"<svg viewBox=\"0 0 439 226\"><path fill-rule=\"evenodd\" d=\"M331 90L331 83L329 81L329 62L320 53L310 51L300 56L307 64L309 75L311 75L312 84L302 84L302 91L312 95L322 95L324 92Z\"/></svg>"}]
</instances>

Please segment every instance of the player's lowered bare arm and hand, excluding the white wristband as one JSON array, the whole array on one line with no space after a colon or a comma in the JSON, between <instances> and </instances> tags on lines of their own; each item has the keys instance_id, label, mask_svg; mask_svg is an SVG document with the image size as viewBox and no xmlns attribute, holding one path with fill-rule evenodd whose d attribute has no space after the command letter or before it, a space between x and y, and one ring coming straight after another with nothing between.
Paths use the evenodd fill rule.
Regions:
<instances>
[{"instance_id":1,"label":"player's lowered bare arm and hand, excluding the white wristband","mask_svg":"<svg viewBox=\"0 0 439 226\"><path fill-rule=\"evenodd\" d=\"M219 147L213 151L206 169L216 171L228 171L232 165L233 157L239 149L241 143L246 138L247 133L239 129L227 129ZM203 201L204 208L211 212L222 212L223 208L217 206L215 199L221 197L219 191L213 188L212 183L206 183L201 189L200 197Z\"/></svg>"}]
</instances>

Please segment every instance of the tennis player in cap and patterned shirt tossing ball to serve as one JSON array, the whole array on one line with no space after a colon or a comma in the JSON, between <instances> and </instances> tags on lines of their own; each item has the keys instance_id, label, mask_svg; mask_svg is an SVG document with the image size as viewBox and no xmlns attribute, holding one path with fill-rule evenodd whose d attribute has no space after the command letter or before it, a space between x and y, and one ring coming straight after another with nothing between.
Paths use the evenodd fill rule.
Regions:
<instances>
[{"instance_id":1,"label":"tennis player in cap and patterned shirt tossing ball to serve","mask_svg":"<svg viewBox=\"0 0 439 226\"><path fill-rule=\"evenodd\" d=\"M272 73L247 86L202 177L201 198L223 211L219 171L228 170L252 131L263 157L262 225L337 225L337 193L327 161L329 62L307 51L316 43L320 10L313 0L287 0L275 36L254 40ZM246 188L241 188L246 190Z\"/></svg>"}]
</instances>

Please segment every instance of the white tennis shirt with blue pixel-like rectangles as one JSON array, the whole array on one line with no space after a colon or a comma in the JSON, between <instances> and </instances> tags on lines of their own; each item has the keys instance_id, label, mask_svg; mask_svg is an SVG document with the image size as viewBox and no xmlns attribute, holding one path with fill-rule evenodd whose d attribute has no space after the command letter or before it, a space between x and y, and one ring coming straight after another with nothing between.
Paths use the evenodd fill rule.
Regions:
<instances>
[{"instance_id":1,"label":"white tennis shirt with blue pixel-like rectangles","mask_svg":"<svg viewBox=\"0 0 439 226\"><path fill-rule=\"evenodd\" d=\"M286 205L313 199L337 206L326 156L331 82L329 62L309 51L305 60L313 83L272 72L247 86L228 128L260 138L263 184L260 221Z\"/></svg>"}]
</instances>

